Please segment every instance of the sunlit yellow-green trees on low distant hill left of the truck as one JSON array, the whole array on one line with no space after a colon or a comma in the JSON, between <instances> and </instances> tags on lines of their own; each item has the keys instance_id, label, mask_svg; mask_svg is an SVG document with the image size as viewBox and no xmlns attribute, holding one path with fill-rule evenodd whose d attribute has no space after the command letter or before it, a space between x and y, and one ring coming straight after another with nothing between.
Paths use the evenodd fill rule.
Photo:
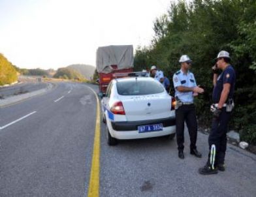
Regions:
<instances>
[{"instance_id":1,"label":"sunlit yellow-green trees on low distant hill left of the truck","mask_svg":"<svg viewBox=\"0 0 256 197\"><path fill-rule=\"evenodd\" d=\"M57 69L54 78L61 78L65 80L84 80L82 74L72 68L59 68Z\"/></svg>"}]
</instances>

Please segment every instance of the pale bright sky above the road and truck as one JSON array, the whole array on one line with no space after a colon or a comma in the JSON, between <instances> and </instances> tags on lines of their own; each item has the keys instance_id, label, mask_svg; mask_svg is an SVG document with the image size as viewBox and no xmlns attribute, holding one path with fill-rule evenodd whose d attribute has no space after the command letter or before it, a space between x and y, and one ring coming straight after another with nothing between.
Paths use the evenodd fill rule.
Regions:
<instances>
[{"instance_id":1,"label":"pale bright sky above the road and truck","mask_svg":"<svg viewBox=\"0 0 256 197\"><path fill-rule=\"evenodd\" d=\"M0 53L20 68L95 66L99 46L149 46L172 0L0 0Z\"/></svg>"}]
</instances>

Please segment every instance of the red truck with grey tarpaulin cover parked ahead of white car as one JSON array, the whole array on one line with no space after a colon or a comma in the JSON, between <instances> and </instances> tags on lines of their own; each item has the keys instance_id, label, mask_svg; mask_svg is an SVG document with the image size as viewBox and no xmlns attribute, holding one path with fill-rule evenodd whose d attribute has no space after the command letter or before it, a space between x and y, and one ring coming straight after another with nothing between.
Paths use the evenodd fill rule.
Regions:
<instances>
[{"instance_id":1,"label":"red truck with grey tarpaulin cover parked ahead of white car","mask_svg":"<svg viewBox=\"0 0 256 197\"><path fill-rule=\"evenodd\" d=\"M96 68L99 73L99 95L106 93L108 83L114 78L133 72L133 45L101 46L96 52Z\"/></svg>"}]
</instances>

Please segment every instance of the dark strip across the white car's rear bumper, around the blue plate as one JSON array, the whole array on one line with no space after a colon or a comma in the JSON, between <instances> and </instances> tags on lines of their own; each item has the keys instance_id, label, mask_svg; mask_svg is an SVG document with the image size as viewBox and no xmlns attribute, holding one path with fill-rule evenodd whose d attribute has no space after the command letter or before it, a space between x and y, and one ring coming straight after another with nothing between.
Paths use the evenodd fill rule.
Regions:
<instances>
[{"instance_id":1,"label":"dark strip across the white car's rear bumper, around the blue plate","mask_svg":"<svg viewBox=\"0 0 256 197\"><path fill-rule=\"evenodd\" d=\"M113 130L116 131L128 131L128 130L138 130L140 125L152 125L152 124L163 124L163 127L171 127L176 125L175 117L168 117L163 119L153 119L146 121L121 121L121 122L111 122Z\"/></svg>"}]
</instances>

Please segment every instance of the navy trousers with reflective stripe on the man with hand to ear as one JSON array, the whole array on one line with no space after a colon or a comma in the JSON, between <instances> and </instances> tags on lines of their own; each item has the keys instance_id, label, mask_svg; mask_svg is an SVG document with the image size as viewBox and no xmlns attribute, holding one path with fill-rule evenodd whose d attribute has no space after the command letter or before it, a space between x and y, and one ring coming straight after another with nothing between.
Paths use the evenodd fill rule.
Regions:
<instances>
[{"instance_id":1,"label":"navy trousers with reflective stripe on the man with hand to ear","mask_svg":"<svg viewBox=\"0 0 256 197\"><path fill-rule=\"evenodd\" d=\"M217 164L224 164L225 161L225 153L227 149L227 129L230 117L231 112L226 112L226 108L223 108L219 117L214 117L212 119L212 129L208 138L210 149L208 163L210 163L212 145L215 145L216 155L214 166Z\"/></svg>"}]
</instances>

